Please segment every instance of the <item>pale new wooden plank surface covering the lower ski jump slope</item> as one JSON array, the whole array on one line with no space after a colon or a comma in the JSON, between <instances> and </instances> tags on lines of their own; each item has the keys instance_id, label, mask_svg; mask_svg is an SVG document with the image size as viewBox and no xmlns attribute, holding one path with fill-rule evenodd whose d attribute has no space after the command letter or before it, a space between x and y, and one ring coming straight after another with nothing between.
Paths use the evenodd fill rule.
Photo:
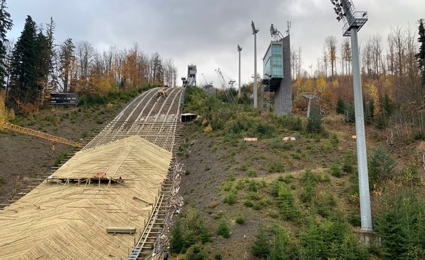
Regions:
<instances>
[{"instance_id":1,"label":"pale new wooden plank surface covering the lower ski jump slope","mask_svg":"<svg viewBox=\"0 0 425 260\"><path fill-rule=\"evenodd\" d=\"M105 171L124 181L45 181L3 210L1 259L126 259L137 234L112 235L106 228L143 230L147 203L155 203L170 162L169 151L138 136L78 152L52 177L78 179Z\"/></svg>"}]
</instances>

